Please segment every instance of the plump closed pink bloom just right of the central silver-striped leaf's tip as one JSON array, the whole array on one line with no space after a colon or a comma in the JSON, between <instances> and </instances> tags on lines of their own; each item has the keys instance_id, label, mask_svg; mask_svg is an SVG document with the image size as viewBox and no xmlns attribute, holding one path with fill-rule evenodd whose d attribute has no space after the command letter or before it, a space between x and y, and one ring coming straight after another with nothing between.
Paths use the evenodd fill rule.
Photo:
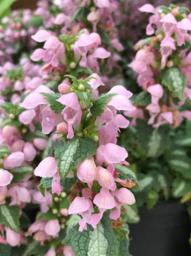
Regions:
<instances>
[{"instance_id":1,"label":"plump closed pink bloom just right of the central silver-striped leaf's tip","mask_svg":"<svg viewBox=\"0 0 191 256\"><path fill-rule=\"evenodd\" d=\"M84 162L79 163L76 169L77 177L91 186L97 174L94 158L88 157Z\"/></svg>"}]
</instances>

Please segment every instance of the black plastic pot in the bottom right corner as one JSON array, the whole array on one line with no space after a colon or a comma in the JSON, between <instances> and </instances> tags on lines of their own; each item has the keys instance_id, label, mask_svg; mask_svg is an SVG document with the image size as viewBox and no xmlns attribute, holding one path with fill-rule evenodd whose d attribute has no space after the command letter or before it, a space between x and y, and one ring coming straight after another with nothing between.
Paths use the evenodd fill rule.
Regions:
<instances>
[{"instance_id":1,"label":"black plastic pot in the bottom right corner","mask_svg":"<svg viewBox=\"0 0 191 256\"><path fill-rule=\"evenodd\" d=\"M184 204L158 202L139 212L140 222L129 225L133 256L191 256L191 220Z\"/></svg>"}]
</instances>

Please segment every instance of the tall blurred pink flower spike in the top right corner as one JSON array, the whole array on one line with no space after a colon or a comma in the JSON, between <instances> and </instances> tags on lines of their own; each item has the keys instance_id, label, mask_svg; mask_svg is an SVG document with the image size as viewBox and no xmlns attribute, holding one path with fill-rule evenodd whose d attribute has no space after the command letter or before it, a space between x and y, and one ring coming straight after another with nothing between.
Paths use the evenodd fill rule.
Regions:
<instances>
[{"instance_id":1,"label":"tall blurred pink flower spike in the top right corner","mask_svg":"<svg viewBox=\"0 0 191 256\"><path fill-rule=\"evenodd\" d=\"M137 83L143 91L151 95L151 103L144 109L139 107L134 112L125 112L126 116L143 119L146 112L150 119L148 124L157 128L163 124L174 127L180 124L183 118L191 120L191 111L179 111L179 106L185 100L191 99L190 57L189 46L191 30L191 15L186 15L180 7L167 8L163 11L160 6L154 8L146 4L139 8L140 12L152 13L146 27L146 35L154 36L140 40L135 49L139 49L135 59L129 64L138 73ZM180 11L179 11L180 10ZM163 71L176 67L186 79L183 101L175 103L176 96L167 92L163 86ZM174 100L175 99L175 100Z\"/></svg>"}]
</instances>

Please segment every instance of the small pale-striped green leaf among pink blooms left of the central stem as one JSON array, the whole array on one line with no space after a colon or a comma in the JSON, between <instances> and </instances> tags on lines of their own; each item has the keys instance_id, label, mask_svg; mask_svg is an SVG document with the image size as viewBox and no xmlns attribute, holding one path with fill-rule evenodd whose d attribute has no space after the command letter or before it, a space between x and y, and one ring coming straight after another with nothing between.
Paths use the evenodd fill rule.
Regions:
<instances>
[{"instance_id":1,"label":"small pale-striped green leaf among pink blooms left of the central stem","mask_svg":"<svg viewBox=\"0 0 191 256\"><path fill-rule=\"evenodd\" d=\"M22 165L20 167L9 170L9 172L13 174L11 183L20 182L26 175L33 173L33 171L33 167L28 165Z\"/></svg>"}]
</instances>

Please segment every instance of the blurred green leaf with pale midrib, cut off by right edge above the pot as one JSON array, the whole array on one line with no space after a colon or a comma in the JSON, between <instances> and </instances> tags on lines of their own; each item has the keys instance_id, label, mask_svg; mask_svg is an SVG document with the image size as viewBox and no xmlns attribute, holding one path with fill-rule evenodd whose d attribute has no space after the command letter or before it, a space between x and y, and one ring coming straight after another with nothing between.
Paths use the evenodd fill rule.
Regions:
<instances>
[{"instance_id":1,"label":"blurred green leaf with pale midrib, cut off by right edge above the pot","mask_svg":"<svg viewBox=\"0 0 191 256\"><path fill-rule=\"evenodd\" d=\"M176 158L169 161L172 169L182 174L184 178L191 179L191 160L186 156L176 156Z\"/></svg>"}]
</instances>

